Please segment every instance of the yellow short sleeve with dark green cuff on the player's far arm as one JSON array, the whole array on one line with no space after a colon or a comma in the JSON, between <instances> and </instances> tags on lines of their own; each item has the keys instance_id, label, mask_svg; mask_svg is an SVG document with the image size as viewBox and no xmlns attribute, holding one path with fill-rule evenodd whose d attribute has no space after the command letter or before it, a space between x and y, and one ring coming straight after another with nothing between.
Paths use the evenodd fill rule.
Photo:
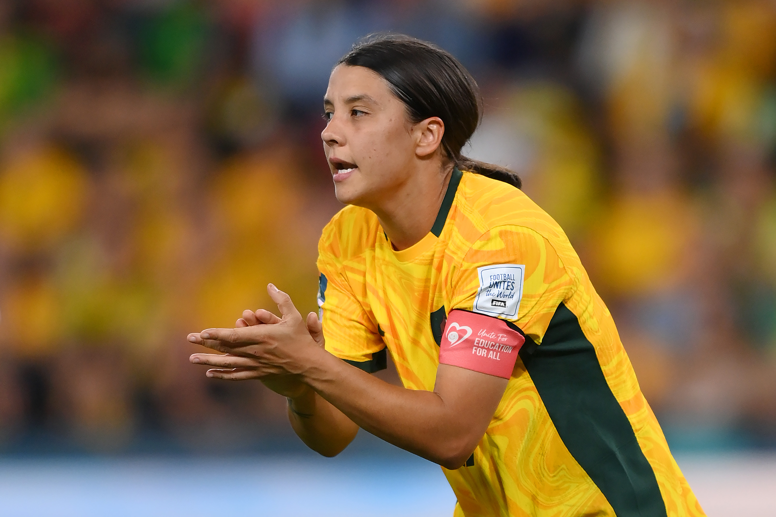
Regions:
<instances>
[{"instance_id":1,"label":"yellow short sleeve with dark green cuff on the player's far arm","mask_svg":"<svg viewBox=\"0 0 776 517\"><path fill-rule=\"evenodd\" d=\"M318 307L326 350L366 372L384 370L386 347L379 326L349 285L341 263L319 246L317 264Z\"/></svg>"}]
</instances>

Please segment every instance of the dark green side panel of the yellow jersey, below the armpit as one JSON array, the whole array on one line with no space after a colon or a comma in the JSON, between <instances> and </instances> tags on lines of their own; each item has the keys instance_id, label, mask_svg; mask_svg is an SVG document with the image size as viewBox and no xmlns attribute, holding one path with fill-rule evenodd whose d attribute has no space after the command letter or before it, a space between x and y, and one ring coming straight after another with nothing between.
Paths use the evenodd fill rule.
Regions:
<instances>
[{"instance_id":1,"label":"dark green side panel of the yellow jersey, below the armpit","mask_svg":"<svg viewBox=\"0 0 776 517\"><path fill-rule=\"evenodd\" d=\"M566 448L615 514L665 517L652 466L577 317L560 304L542 344L520 356Z\"/></svg>"}]
</instances>

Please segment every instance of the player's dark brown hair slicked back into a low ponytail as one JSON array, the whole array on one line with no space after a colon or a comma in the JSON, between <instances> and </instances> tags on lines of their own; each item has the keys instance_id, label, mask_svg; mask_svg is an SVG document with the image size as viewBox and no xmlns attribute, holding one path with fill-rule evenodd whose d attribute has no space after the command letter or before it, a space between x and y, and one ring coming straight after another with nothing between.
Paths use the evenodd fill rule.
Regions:
<instances>
[{"instance_id":1,"label":"player's dark brown hair slicked back into a low ponytail","mask_svg":"<svg viewBox=\"0 0 776 517\"><path fill-rule=\"evenodd\" d=\"M480 124L482 99L472 75L449 52L404 34L380 33L356 43L337 64L379 74L407 106L412 123L431 116L442 119L442 148L458 168L521 187L516 172L461 154Z\"/></svg>"}]
</instances>

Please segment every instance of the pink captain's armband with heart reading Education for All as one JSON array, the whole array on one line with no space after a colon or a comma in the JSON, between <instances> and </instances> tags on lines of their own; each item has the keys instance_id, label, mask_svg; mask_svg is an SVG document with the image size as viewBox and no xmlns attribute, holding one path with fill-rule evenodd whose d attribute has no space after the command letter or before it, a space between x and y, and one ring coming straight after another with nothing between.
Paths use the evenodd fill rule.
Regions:
<instances>
[{"instance_id":1,"label":"pink captain's armband with heart reading Education for All","mask_svg":"<svg viewBox=\"0 0 776 517\"><path fill-rule=\"evenodd\" d=\"M509 379L525 338L506 321L476 312L450 311L439 364Z\"/></svg>"}]
</instances>

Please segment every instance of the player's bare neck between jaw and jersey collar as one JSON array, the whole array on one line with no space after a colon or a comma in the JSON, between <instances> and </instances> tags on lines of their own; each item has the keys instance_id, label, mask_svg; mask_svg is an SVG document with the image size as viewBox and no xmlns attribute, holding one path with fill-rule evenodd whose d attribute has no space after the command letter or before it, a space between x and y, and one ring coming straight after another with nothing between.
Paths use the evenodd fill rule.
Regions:
<instances>
[{"instance_id":1,"label":"player's bare neck between jaw and jersey collar","mask_svg":"<svg viewBox=\"0 0 776 517\"><path fill-rule=\"evenodd\" d=\"M393 196L372 207L394 249L407 249L431 231L451 177L452 165L443 173L438 168L418 171Z\"/></svg>"}]
</instances>

